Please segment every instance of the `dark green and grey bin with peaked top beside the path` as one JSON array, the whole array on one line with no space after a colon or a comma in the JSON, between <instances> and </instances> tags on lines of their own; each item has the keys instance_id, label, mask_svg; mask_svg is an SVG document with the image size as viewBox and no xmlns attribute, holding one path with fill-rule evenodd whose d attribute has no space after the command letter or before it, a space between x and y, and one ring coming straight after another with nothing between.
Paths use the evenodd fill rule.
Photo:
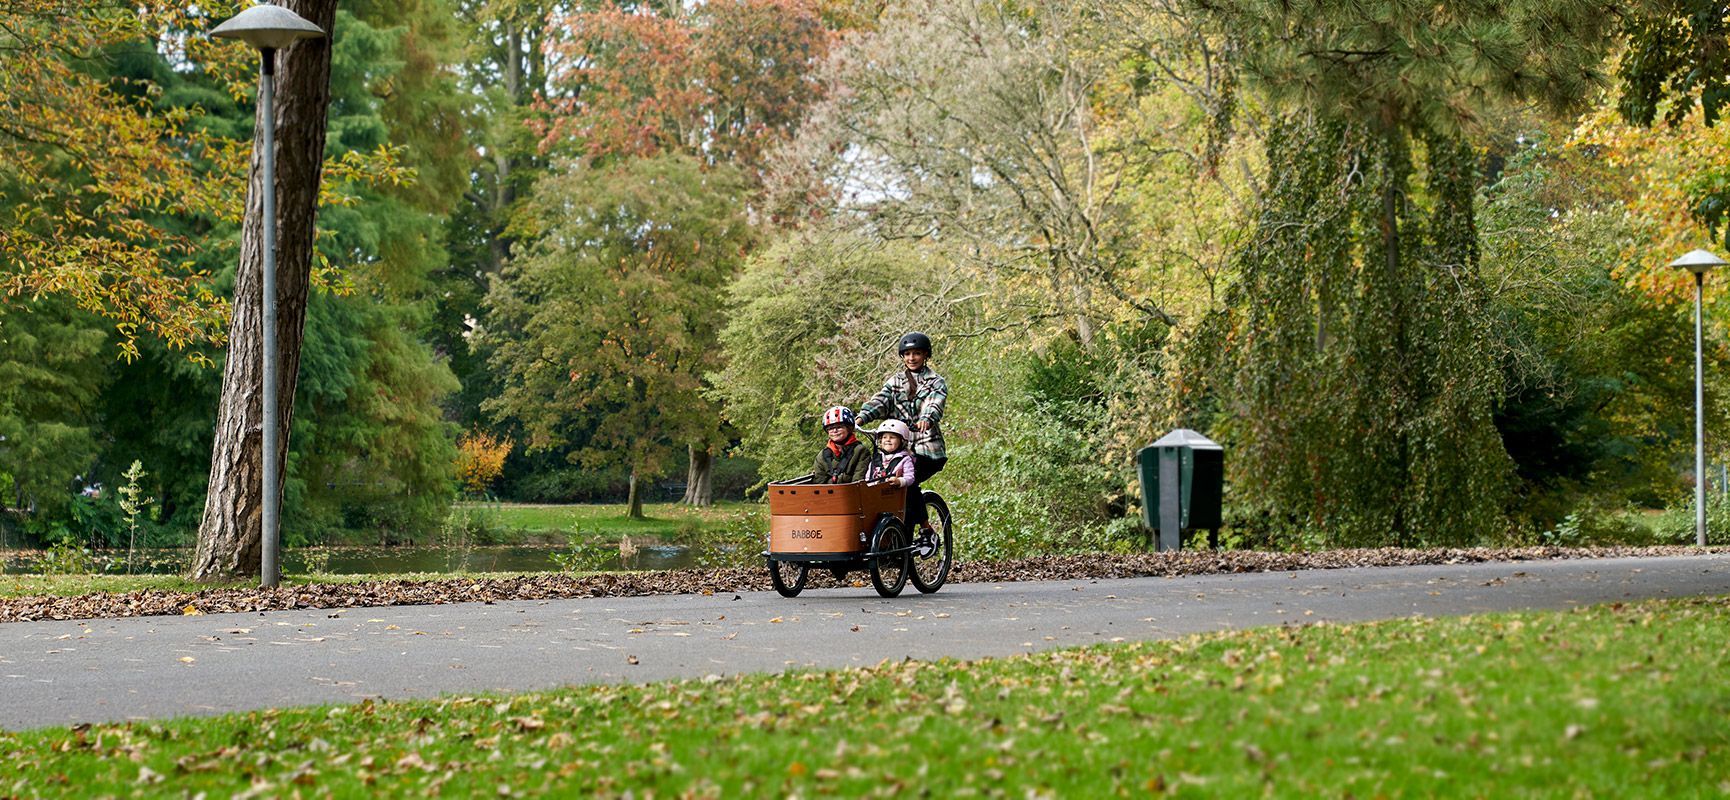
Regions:
<instances>
[{"instance_id":1,"label":"dark green and grey bin with peaked top beside the path","mask_svg":"<svg viewBox=\"0 0 1730 800\"><path fill-rule=\"evenodd\" d=\"M1218 547L1225 500L1225 450L1211 438L1178 428L1137 454L1142 525L1156 532L1157 551L1182 547L1185 530L1208 530Z\"/></svg>"}]
</instances>

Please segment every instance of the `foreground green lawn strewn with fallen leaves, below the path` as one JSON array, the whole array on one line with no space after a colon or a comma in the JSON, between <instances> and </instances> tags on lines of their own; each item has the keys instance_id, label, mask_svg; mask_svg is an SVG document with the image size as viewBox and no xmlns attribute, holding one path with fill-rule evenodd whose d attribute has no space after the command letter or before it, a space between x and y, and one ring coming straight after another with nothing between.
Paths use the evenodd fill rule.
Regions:
<instances>
[{"instance_id":1,"label":"foreground green lawn strewn with fallen leaves, below the path","mask_svg":"<svg viewBox=\"0 0 1730 800\"><path fill-rule=\"evenodd\" d=\"M1720 797L1730 601L0 734L0 795Z\"/></svg>"}]
</instances>

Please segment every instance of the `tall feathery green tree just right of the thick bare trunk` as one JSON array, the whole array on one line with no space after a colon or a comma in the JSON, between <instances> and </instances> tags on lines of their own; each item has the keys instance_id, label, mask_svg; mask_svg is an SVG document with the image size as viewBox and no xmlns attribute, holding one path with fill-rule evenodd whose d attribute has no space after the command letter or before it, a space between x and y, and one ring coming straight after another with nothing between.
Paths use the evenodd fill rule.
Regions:
<instances>
[{"instance_id":1,"label":"tall feathery green tree just right of the thick bare trunk","mask_svg":"<svg viewBox=\"0 0 1730 800\"><path fill-rule=\"evenodd\" d=\"M298 502L284 518L301 523L291 532L301 540L358 528L401 542L434 530L453 497L455 431L439 402L457 383L424 338L431 275L448 261L441 225L474 165L467 100L448 69L457 42L445 2L353 2L337 28L325 149L391 149L412 180L353 187L320 213L317 258L353 291L325 293L308 312Z\"/></svg>"}]
</instances>

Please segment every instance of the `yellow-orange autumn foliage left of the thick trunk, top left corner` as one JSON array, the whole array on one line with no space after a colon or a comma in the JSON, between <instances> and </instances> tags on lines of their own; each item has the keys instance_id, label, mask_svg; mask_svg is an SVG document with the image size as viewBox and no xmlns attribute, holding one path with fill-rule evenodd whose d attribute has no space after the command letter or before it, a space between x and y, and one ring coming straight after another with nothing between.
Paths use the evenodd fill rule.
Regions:
<instances>
[{"instance_id":1,"label":"yellow-orange autumn foliage left of the thick trunk, top left corner","mask_svg":"<svg viewBox=\"0 0 1730 800\"><path fill-rule=\"evenodd\" d=\"M183 346L220 339L227 319L190 267L197 242L161 220L239 220L246 149L206 135L194 109L156 107L154 83L114 76L123 48L176 38L244 80L244 54L202 36L211 9L190 9L0 2L0 298L66 296L111 319L128 355L138 331Z\"/></svg>"}]
</instances>

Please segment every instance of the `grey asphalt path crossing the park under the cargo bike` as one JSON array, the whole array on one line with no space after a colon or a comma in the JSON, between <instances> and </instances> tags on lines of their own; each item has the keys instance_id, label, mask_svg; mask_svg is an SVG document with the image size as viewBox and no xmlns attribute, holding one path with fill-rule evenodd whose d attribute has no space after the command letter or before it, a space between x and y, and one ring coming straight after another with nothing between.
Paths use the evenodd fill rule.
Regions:
<instances>
[{"instance_id":1,"label":"grey asphalt path crossing the park under the cargo bike","mask_svg":"<svg viewBox=\"0 0 1730 800\"><path fill-rule=\"evenodd\" d=\"M1730 594L1730 556L460 603L0 625L0 727L983 658L1393 616Z\"/></svg>"}]
</instances>

